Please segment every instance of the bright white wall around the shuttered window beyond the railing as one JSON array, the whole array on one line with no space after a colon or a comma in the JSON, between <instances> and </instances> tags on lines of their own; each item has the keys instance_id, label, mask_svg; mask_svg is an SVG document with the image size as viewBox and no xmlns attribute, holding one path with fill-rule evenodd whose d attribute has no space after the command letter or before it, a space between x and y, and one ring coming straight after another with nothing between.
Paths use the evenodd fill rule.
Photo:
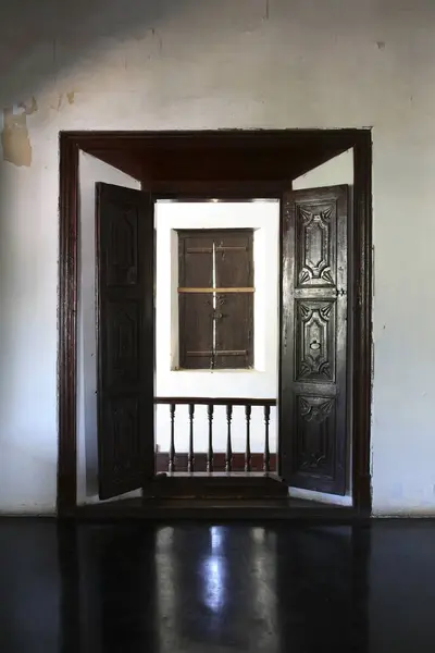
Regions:
<instances>
[{"instance_id":1,"label":"bright white wall around the shuttered window beyond the railing","mask_svg":"<svg viewBox=\"0 0 435 653\"><path fill-rule=\"evenodd\" d=\"M277 201L167 202L156 206L157 300L156 300L156 394L182 397L273 398L277 393L278 347L278 226ZM181 229L253 229L254 310L252 370L176 370L178 344L178 241ZM176 451L187 452L188 410L176 409ZM276 411L271 410L271 451L276 448ZM233 448L245 451L245 412L234 408ZM195 451L207 452L207 408L196 408ZM169 407L160 406L156 420L157 444L169 451ZM225 452L225 407L216 407L213 446ZM252 409L252 452L264 449L263 410Z\"/></svg>"}]
</instances>

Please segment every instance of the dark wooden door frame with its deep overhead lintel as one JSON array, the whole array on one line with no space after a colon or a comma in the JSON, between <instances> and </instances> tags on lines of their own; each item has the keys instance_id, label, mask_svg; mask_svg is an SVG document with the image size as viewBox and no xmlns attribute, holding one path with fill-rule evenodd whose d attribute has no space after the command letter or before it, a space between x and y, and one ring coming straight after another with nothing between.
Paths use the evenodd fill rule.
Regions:
<instances>
[{"instance_id":1,"label":"dark wooden door frame with its deep overhead lintel","mask_svg":"<svg viewBox=\"0 0 435 653\"><path fill-rule=\"evenodd\" d=\"M76 361L77 361L77 172L78 149L119 167L142 182L142 187L173 198L277 197L289 180L355 148L353 248L353 498L361 515L371 509L370 406L371 406L371 157L370 130L288 130L219 132L64 132L60 135L60 295L59 295L59 465L58 508L67 516L76 503ZM171 149L172 148L172 149ZM196 148L196 149L195 149ZM199 148L199 149L198 149ZM226 168L234 149L247 163ZM179 152L175 157L172 151ZM203 158L220 151L221 167L211 178L199 178L194 164L190 178L181 174L186 151L202 165ZM153 155L166 152L166 172L159 172ZM264 156L258 156L263 151ZM270 157L269 153L273 157ZM273 167L271 168L271 160ZM251 169L256 160L258 169ZM172 171L167 164L174 161ZM147 163L148 162L148 163ZM245 165L244 163L244 165ZM263 170L263 173L261 173ZM153 172L154 171L154 172ZM209 176L210 176L209 169ZM231 172L232 171L232 172ZM265 172L264 172L265 171ZM240 174L241 173L241 174ZM233 177L231 175L234 175ZM253 176L252 176L253 175Z\"/></svg>"}]
</instances>

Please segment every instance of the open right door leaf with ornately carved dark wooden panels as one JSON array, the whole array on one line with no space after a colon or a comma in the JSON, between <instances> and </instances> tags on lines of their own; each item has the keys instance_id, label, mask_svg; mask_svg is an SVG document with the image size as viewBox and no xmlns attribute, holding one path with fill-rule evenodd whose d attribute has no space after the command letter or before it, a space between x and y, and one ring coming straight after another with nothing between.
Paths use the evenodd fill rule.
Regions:
<instances>
[{"instance_id":1,"label":"open right door leaf with ornately carved dark wooden panels","mask_svg":"<svg viewBox=\"0 0 435 653\"><path fill-rule=\"evenodd\" d=\"M282 211L281 475L345 494L348 187L290 192Z\"/></svg>"}]
</instances>

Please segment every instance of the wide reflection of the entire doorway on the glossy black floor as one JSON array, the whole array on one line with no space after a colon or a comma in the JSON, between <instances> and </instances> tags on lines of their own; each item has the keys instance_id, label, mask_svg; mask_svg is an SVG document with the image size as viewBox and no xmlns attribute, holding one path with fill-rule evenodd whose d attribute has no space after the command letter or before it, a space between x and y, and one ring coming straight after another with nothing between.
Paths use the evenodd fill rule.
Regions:
<instances>
[{"instance_id":1,"label":"wide reflection of the entire doorway on the glossy black floor","mask_svg":"<svg viewBox=\"0 0 435 653\"><path fill-rule=\"evenodd\" d=\"M75 650L366 651L350 527L83 528Z\"/></svg>"}]
</instances>

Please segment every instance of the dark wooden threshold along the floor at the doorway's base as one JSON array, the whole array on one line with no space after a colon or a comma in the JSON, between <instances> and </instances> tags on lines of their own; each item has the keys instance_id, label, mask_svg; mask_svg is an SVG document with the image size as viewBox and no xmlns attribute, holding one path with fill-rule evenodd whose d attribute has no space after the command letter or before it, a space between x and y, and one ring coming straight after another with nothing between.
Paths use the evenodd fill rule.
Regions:
<instances>
[{"instance_id":1,"label":"dark wooden threshold along the floor at the doorway's base","mask_svg":"<svg viewBox=\"0 0 435 653\"><path fill-rule=\"evenodd\" d=\"M300 498L124 498L79 506L78 520L201 521L303 520L349 522L358 512L349 506L332 506Z\"/></svg>"}]
</instances>

